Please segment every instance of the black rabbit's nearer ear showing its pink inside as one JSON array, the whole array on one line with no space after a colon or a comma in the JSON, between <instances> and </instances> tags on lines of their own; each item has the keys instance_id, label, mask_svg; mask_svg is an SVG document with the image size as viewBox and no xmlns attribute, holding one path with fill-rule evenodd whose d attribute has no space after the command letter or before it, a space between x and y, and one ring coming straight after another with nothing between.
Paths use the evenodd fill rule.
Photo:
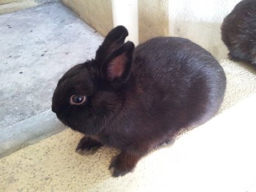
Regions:
<instances>
[{"instance_id":1,"label":"black rabbit's nearer ear showing its pink inside","mask_svg":"<svg viewBox=\"0 0 256 192\"><path fill-rule=\"evenodd\" d=\"M102 79L111 83L124 83L130 74L134 44L126 42L112 52L100 67Z\"/></svg>"}]
</instances>

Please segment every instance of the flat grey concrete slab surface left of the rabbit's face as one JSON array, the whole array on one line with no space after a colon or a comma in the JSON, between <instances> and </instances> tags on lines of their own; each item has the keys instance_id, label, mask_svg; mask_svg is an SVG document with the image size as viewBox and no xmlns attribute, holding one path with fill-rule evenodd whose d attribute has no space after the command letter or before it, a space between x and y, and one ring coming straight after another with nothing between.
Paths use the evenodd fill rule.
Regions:
<instances>
[{"instance_id":1,"label":"flat grey concrete slab surface left of the rabbit's face","mask_svg":"<svg viewBox=\"0 0 256 192\"><path fill-rule=\"evenodd\" d=\"M1 144L10 135L20 140L15 134L31 122L33 132L44 129L35 119L42 122L40 114L45 117L47 110L48 118L54 117L49 109L58 79L68 68L93 58L101 42L99 33L61 3L0 15ZM28 118L32 119L26 123ZM1 145L0 156L8 145Z\"/></svg>"}]
</instances>

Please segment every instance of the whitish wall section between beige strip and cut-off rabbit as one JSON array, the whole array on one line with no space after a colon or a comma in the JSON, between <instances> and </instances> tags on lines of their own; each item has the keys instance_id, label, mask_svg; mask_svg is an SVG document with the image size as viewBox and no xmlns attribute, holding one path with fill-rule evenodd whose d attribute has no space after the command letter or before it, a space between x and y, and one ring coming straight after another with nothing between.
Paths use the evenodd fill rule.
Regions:
<instances>
[{"instance_id":1,"label":"whitish wall section between beige strip and cut-off rabbit","mask_svg":"<svg viewBox=\"0 0 256 192\"><path fill-rule=\"evenodd\" d=\"M169 35L189 38L218 60L227 58L220 26L240 0L169 0Z\"/></svg>"}]
</instances>

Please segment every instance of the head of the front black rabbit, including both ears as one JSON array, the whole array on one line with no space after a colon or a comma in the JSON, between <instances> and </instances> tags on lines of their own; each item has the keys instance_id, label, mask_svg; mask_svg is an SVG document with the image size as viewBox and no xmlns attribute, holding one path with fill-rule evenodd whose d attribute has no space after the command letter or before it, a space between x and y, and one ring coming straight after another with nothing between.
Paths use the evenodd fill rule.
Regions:
<instances>
[{"instance_id":1,"label":"head of the front black rabbit, including both ears","mask_svg":"<svg viewBox=\"0 0 256 192\"><path fill-rule=\"evenodd\" d=\"M68 70L52 97L52 111L68 127L97 134L114 117L124 100L134 44L124 43L124 26L111 30L96 52L95 60Z\"/></svg>"}]
</instances>

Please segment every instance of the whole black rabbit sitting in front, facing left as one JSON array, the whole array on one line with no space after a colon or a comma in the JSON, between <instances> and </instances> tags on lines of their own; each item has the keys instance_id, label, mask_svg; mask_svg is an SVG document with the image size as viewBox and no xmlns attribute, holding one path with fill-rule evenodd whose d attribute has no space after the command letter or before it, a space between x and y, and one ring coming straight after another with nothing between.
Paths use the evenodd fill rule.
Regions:
<instances>
[{"instance_id":1,"label":"whole black rabbit sitting in front, facing left","mask_svg":"<svg viewBox=\"0 0 256 192\"><path fill-rule=\"evenodd\" d=\"M226 86L220 64L199 45L157 37L134 49L124 43L127 35L124 26L110 31L95 60L68 70L52 97L61 122L85 134L77 150L121 150L109 166L115 177L182 129L214 116Z\"/></svg>"}]
</instances>

